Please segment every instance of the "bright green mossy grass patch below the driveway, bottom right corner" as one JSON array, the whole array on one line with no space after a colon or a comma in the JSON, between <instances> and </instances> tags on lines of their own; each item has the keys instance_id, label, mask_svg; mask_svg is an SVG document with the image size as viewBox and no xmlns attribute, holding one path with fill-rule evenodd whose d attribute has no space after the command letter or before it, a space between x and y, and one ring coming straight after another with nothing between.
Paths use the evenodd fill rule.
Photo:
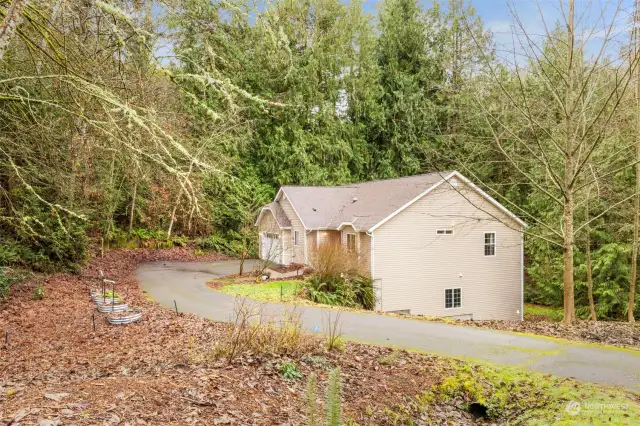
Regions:
<instances>
[{"instance_id":1,"label":"bright green mossy grass patch below the driveway, bottom right corner","mask_svg":"<svg viewBox=\"0 0 640 426\"><path fill-rule=\"evenodd\" d=\"M637 396L513 367L442 360L446 377L416 398L421 412L434 403L479 402L491 419L532 425L635 424Z\"/></svg>"}]
</instances>

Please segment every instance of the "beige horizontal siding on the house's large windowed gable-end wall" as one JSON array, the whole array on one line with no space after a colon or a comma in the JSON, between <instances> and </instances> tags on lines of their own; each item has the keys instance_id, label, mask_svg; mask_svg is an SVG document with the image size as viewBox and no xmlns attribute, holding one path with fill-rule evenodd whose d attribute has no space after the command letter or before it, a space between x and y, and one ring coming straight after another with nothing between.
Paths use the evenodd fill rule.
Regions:
<instances>
[{"instance_id":1,"label":"beige horizontal siding on the house's large windowed gable-end wall","mask_svg":"<svg viewBox=\"0 0 640 426\"><path fill-rule=\"evenodd\" d=\"M510 227L520 225L464 184L440 185L374 231L378 309L521 319L522 238ZM436 234L449 228L453 235ZM496 233L495 256L484 255L485 232ZM461 289L461 307L445 309L449 288Z\"/></svg>"}]
</instances>

